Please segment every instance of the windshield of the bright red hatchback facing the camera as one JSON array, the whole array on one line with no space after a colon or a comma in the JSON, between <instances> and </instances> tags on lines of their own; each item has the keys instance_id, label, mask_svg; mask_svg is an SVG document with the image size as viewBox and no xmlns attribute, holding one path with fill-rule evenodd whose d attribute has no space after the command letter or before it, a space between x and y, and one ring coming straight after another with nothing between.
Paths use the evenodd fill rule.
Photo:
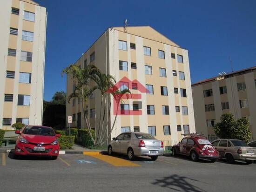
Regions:
<instances>
[{"instance_id":1,"label":"windshield of the bright red hatchback facing the camera","mask_svg":"<svg viewBox=\"0 0 256 192\"><path fill-rule=\"evenodd\" d=\"M27 135L55 136L55 132L52 128L39 126L26 126L23 133Z\"/></svg>"}]
</instances>

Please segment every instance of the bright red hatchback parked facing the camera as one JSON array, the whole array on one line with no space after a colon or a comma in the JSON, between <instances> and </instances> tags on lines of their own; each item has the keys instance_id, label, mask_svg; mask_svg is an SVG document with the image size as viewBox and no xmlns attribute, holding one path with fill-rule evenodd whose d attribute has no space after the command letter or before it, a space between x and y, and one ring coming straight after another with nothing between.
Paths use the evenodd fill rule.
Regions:
<instances>
[{"instance_id":1,"label":"bright red hatchback parked facing the camera","mask_svg":"<svg viewBox=\"0 0 256 192\"><path fill-rule=\"evenodd\" d=\"M58 138L52 127L47 126L25 126L21 131L15 145L15 156L37 155L50 156L57 159L60 152Z\"/></svg>"}]
</instances>

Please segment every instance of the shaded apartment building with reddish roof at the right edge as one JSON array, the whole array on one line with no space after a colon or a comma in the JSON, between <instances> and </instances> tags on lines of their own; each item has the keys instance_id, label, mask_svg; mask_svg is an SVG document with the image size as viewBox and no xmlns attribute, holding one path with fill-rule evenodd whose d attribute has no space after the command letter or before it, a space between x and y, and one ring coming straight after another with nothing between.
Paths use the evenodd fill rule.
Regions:
<instances>
[{"instance_id":1,"label":"shaded apartment building with reddish roof at the right edge","mask_svg":"<svg viewBox=\"0 0 256 192\"><path fill-rule=\"evenodd\" d=\"M195 83L192 94L196 132L215 139L213 126L223 113L232 113L249 119L251 139L256 139L256 66Z\"/></svg>"}]
</instances>

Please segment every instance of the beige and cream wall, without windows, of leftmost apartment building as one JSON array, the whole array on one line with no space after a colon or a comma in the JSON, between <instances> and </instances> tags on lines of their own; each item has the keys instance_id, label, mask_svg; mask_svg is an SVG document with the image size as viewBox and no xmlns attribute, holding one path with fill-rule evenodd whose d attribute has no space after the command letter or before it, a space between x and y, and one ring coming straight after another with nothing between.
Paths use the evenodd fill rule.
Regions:
<instances>
[{"instance_id":1,"label":"beige and cream wall, without windows, of leftmost apartment building","mask_svg":"<svg viewBox=\"0 0 256 192\"><path fill-rule=\"evenodd\" d=\"M45 7L40 7L30 0L5 0L0 6L0 128L2 118L29 118L29 124L41 125L43 107L43 80L45 62L45 37L47 13ZM12 7L20 10L19 15L11 13ZM23 20L23 11L35 13L35 20ZM10 27L18 29L18 35L10 34ZM22 31L34 32L34 41L22 40ZM8 56L8 48L16 49L16 56ZM33 53L32 62L21 61L20 52ZM7 71L14 71L14 79L6 78ZM19 83L20 72L31 73L31 83ZM5 102L4 94L13 94L13 102ZM30 106L18 106L18 95L30 95Z\"/></svg>"}]
</instances>

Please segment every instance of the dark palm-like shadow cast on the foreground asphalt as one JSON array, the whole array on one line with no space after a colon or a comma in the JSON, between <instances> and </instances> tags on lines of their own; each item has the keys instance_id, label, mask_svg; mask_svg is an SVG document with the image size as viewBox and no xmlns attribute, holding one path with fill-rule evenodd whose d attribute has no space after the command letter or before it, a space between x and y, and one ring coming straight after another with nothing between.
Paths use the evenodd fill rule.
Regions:
<instances>
[{"instance_id":1,"label":"dark palm-like shadow cast on the foreground asphalt","mask_svg":"<svg viewBox=\"0 0 256 192\"><path fill-rule=\"evenodd\" d=\"M188 177L182 177L177 174L173 174L162 179L156 179L153 185L158 185L161 187L167 187L172 191L183 191L183 192L206 192L199 187L192 185L189 181L201 182L196 179L190 179Z\"/></svg>"}]
</instances>

